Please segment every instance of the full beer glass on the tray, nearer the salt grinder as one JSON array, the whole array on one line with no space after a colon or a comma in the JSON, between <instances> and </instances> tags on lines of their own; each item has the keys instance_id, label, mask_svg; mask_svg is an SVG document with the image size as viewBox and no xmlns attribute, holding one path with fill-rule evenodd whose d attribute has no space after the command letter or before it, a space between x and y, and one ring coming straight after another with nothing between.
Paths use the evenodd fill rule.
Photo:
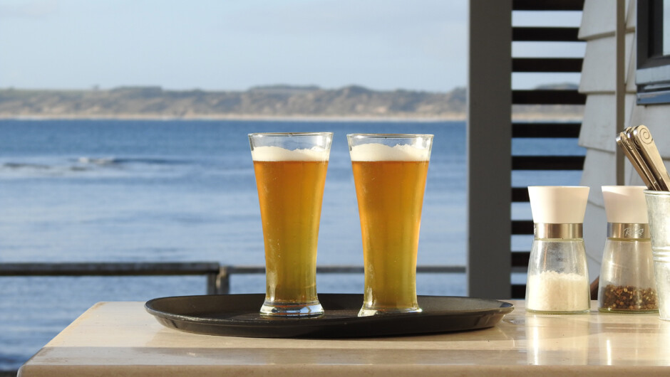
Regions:
<instances>
[{"instance_id":1,"label":"full beer glass on the tray, nearer the salt grinder","mask_svg":"<svg viewBox=\"0 0 670 377\"><path fill-rule=\"evenodd\" d=\"M433 135L348 134L365 291L359 317L421 312L416 253Z\"/></svg>"}]
</instances>

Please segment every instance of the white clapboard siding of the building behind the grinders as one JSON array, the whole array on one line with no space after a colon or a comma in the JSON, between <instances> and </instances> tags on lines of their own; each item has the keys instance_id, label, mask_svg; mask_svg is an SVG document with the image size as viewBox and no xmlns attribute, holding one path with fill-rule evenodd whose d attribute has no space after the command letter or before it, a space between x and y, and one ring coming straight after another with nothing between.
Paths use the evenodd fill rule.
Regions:
<instances>
[{"instance_id":1,"label":"white clapboard siding of the building behind the grinders","mask_svg":"<svg viewBox=\"0 0 670 377\"><path fill-rule=\"evenodd\" d=\"M582 14L579 38L587 41L582 79L579 91L587 95L584 120L579 133L579 145L587 148L581 184L591 188L586 216L584 217L584 243L587 248L589 276L599 275L602 249L607 237L601 186L616 183L614 151L614 29L616 26L614 0L586 0ZM617 127L645 124L651 129L665 159L670 158L670 105L639 106L636 103L635 70L637 1L627 1L626 35L626 108L627 124ZM669 165L666 161L666 165ZM642 185L637 171L629 161L624 161L625 184Z\"/></svg>"}]
</instances>

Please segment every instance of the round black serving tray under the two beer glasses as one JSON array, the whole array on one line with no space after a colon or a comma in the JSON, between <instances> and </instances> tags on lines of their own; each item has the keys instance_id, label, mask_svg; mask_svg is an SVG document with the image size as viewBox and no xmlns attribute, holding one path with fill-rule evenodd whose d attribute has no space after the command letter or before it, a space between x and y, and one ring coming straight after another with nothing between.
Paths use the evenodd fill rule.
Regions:
<instances>
[{"instance_id":1,"label":"round black serving tray under the two beer glasses","mask_svg":"<svg viewBox=\"0 0 670 377\"><path fill-rule=\"evenodd\" d=\"M357 317L363 294L319 294L317 318L261 317L264 294L212 294L152 299L147 312L182 331L260 338L352 338L485 329L514 310L508 302L470 297L418 296L423 312Z\"/></svg>"}]
</instances>

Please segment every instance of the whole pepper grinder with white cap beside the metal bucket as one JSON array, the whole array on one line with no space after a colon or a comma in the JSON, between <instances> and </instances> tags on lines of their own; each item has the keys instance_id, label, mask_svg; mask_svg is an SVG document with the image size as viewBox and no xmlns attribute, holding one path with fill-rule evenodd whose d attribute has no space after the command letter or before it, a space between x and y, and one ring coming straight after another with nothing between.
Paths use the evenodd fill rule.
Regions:
<instances>
[{"instance_id":1,"label":"whole pepper grinder with white cap beside the metal bucket","mask_svg":"<svg viewBox=\"0 0 670 377\"><path fill-rule=\"evenodd\" d=\"M658 312L645 186L602 186L607 241L598 290L600 312Z\"/></svg>"}]
</instances>

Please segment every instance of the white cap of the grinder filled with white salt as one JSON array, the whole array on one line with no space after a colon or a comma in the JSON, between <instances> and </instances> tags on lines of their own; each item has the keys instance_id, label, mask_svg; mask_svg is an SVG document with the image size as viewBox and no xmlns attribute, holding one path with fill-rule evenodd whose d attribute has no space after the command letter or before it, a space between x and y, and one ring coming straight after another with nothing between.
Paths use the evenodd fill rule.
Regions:
<instances>
[{"instance_id":1,"label":"white cap of the grinder filled with white salt","mask_svg":"<svg viewBox=\"0 0 670 377\"><path fill-rule=\"evenodd\" d=\"M584 223L586 186L528 186L532 221L544 224Z\"/></svg>"}]
</instances>

